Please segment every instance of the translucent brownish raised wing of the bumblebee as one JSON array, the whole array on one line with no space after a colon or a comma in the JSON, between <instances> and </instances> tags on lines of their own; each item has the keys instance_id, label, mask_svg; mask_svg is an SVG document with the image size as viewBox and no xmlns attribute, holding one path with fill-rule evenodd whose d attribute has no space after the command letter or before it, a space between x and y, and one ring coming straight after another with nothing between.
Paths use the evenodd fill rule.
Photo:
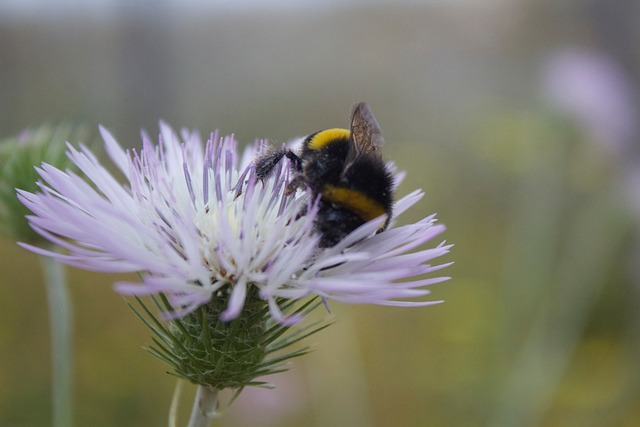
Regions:
<instances>
[{"instance_id":1,"label":"translucent brownish raised wing of the bumblebee","mask_svg":"<svg viewBox=\"0 0 640 427\"><path fill-rule=\"evenodd\" d=\"M363 154L375 153L380 156L383 145L382 129L373 116L369 104L366 102L355 104L351 109L351 137L344 170L346 171Z\"/></svg>"}]
</instances>

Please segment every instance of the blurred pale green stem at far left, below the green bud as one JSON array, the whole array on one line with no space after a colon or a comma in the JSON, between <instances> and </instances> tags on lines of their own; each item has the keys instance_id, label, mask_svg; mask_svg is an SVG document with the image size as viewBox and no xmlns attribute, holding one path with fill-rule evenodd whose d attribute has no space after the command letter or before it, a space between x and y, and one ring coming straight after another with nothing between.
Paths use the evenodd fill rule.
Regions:
<instances>
[{"instance_id":1,"label":"blurred pale green stem at far left, below the green bud","mask_svg":"<svg viewBox=\"0 0 640 427\"><path fill-rule=\"evenodd\" d=\"M71 298L64 265L41 257L51 327L52 411L54 427L72 425L71 399Z\"/></svg>"}]
</instances>

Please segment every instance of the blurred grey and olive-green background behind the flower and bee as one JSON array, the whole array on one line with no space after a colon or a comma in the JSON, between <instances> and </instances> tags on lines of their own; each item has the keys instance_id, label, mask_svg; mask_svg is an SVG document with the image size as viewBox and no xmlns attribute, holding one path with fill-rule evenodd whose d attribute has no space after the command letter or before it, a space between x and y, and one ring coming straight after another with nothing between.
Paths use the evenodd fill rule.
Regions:
<instances>
[{"instance_id":1,"label":"blurred grey and olive-green background behind the flower and bee","mask_svg":"<svg viewBox=\"0 0 640 427\"><path fill-rule=\"evenodd\" d=\"M340 306L219 426L640 425L640 2L3 0L0 137L158 120L284 142L365 100L437 212L445 303ZM37 256L0 239L0 425L51 418ZM69 270L78 426L166 425L175 385L111 289ZM327 315L327 317L329 317ZM185 391L181 419L193 390Z\"/></svg>"}]
</instances>

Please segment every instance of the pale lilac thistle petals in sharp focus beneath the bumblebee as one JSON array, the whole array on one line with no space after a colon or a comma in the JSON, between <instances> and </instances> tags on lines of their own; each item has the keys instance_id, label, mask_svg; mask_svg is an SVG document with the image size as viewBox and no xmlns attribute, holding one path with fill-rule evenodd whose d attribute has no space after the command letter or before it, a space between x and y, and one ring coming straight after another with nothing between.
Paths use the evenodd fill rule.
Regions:
<instances>
[{"instance_id":1,"label":"pale lilac thistle petals in sharp focus beneath the bumblebee","mask_svg":"<svg viewBox=\"0 0 640 427\"><path fill-rule=\"evenodd\" d=\"M444 242L407 253L444 231L434 215L375 234L385 220L378 218L320 249L314 204L304 192L285 192L286 161L261 183L252 166L255 147L240 158L232 136L214 133L203 144L196 133L178 137L161 124L159 143L143 137L137 152L123 150L107 130L101 133L126 184L86 147L69 145L69 158L86 178L43 164L37 168L40 192L19 191L33 212L33 229L68 254L22 246L88 270L140 272L141 283L119 282L116 290L163 293L174 317L224 297L228 305L221 318L231 320L256 294L280 322L298 319L286 319L279 304L311 295L400 306L439 302L403 301L427 295L424 286L448 279L417 277L449 265L426 264L448 252ZM395 214L421 197L417 190L398 200Z\"/></svg>"}]
</instances>

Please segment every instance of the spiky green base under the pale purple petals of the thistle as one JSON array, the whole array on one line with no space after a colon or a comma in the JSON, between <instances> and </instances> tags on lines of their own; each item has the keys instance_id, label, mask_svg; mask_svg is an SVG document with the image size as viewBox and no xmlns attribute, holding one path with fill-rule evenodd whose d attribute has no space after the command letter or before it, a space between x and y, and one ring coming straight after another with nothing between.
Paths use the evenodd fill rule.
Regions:
<instances>
[{"instance_id":1,"label":"spiky green base under the pale purple petals of the thistle","mask_svg":"<svg viewBox=\"0 0 640 427\"><path fill-rule=\"evenodd\" d=\"M168 321L139 298L138 307L130 307L153 331L154 344L147 350L171 366L170 374L217 390L269 387L258 378L286 371L285 362L308 352L308 347L295 344L328 324L316 321L291 327L278 323L257 292L252 288L240 316L228 322L220 320L227 307L223 292L185 317ZM164 296L153 302L161 311L172 309ZM281 303L285 313L303 316L321 304L318 298L303 304Z\"/></svg>"}]
</instances>

